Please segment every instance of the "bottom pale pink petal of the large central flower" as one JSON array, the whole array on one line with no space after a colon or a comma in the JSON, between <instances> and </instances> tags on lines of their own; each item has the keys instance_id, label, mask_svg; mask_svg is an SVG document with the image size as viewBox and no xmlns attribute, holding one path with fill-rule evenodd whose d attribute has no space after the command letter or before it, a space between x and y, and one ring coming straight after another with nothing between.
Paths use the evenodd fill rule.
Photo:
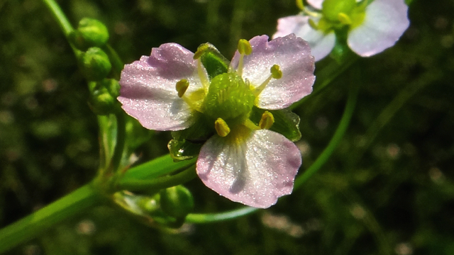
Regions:
<instances>
[{"instance_id":1,"label":"bottom pale pink petal of the large central flower","mask_svg":"<svg viewBox=\"0 0 454 255\"><path fill-rule=\"evenodd\" d=\"M243 139L211 137L201 148L197 174L221 196L268 208L292 193L301 153L293 142L270 130L252 131Z\"/></svg>"}]
</instances>

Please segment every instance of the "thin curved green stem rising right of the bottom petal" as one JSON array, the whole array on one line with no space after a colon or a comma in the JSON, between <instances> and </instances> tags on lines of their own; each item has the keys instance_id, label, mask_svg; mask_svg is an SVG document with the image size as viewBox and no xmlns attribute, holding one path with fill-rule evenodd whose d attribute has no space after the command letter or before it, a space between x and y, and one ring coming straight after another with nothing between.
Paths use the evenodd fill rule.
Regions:
<instances>
[{"instance_id":1,"label":"thin curved green stem rising right of the bottom petal","mask_svg":"<svg viewBox=\"0 0 454 255\"><path fill-rule=\"evenodd\" d=\"M355 74L353 74L355 75ZM358 79L358 75L356 75ZM357 80L355 79L355 81ZM358 79L359 80L359 79ZM297 180L294 183L294 188L299 188L301 185L306 182L312 175L314 175L325 162L328 161L329 157L331 157L331 154L333 154L334 150L336 147L338 147L339 143L341 142L343 135L345 134L345 131L348 128L348 124L350 124L350 120L353 115L353 111L355 110L355 104L356 104L356 99L358 98L358 92L359 92L359 81L358 84L353 84L353 88L350 89L349 94L348 94L348 99L347 99L347 105L345 106L345 111L343 112L343 116L341 118L341 122L338 125L338 128L336 129L336 132L334 132L333 137L331 138L331 141L328 143L328 146L323 149L323 152L321 152L320 156L316 159L316 161L309 166L309 169L307 169L304 174L299 176Z\"/></svg>"}]
</instances>

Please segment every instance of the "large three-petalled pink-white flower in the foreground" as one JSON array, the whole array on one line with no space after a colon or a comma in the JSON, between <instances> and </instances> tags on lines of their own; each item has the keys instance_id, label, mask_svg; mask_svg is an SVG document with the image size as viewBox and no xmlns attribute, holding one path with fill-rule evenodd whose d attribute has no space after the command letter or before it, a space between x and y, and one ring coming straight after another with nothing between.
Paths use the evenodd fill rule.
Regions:
<instances>
[{"instance_id":1,"label":"large three-petalled pink-white flower in the foreground","mask_svg":"<svg viewBox=\"0 0 454 255\"><path fill-rule=\"evenodd\" d=\"M287 35L269 42L262 35L252 38L249 44L252 52L244 54L237 50L228 73L243 80L236 85L243 86L240 89L246 92L252 91L256 107L287 108L311 93L314 58L304 40ZM273 68L282 72L282 77L270 73ZM182 91L183 96L175 89L181 81L189 84ZM145 128L184 130L194 124L194 115L200 113L210 113L207 118L213 120L215 128L214 121L219 116L213 113L221 110L206 109L212 106L204 101L211 93L209 76L200 60L194 60L194 53L181 45L161 45L153 48L150 57L126 64L120 84L118 101L123 110ZM251 127L248 116L245 111L235 120L226 119L221 124L216 120L221 129L228 128L227 135L216 127L217 133L201 147L196 171L201 181L221 196L267 208L280 196L292 192L301 154L283 135Z\"/></svg>"}]
</instances>

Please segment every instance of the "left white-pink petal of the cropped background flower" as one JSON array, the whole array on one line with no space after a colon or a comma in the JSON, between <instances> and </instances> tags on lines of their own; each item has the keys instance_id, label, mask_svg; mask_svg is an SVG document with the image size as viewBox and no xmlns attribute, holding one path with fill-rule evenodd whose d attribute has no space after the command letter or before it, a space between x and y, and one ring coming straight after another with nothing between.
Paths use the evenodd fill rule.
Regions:
<instances>
[{"instance_id":1,"label":"left white-pink petal of the cropped background flower","mask_svg":"<svg viewBox=\"0 0 454 255\"><path fill-rule=\"evenodd\" d=\"M311 54L315 57L315 61L326 57L333 50L336 43L336 35L333 32L326 34L311 28L308 16L297 15L279 18L277 20L277 32L272 37L283 37L290 33L294 33L309 43Z\"/></svg>"}]
</instances>

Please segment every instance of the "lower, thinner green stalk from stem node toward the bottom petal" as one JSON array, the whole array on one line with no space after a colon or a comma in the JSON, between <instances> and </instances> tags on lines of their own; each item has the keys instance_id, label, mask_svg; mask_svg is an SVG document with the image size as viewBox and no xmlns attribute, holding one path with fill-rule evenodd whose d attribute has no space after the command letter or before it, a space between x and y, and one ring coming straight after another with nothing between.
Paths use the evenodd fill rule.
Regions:
<instances>
[{"instance_id":1,"label":"lower, thinner green stalk from stem node toward the bottom petal","mask_svg":"<svg viewBox=\"0 0 454 255\"><path fill-rule=\"evenodd\" d=\"M119 181L116 188L118 190L128 190L128 191L144 191L144 190L160 190L162 188L170 188L177 186L179 184L191 181L196 176L196 166L190 166L188 169L172 175L172 176L163 176L157 179L129 179L126 181Z\"/></svg>"}]
</instances>

